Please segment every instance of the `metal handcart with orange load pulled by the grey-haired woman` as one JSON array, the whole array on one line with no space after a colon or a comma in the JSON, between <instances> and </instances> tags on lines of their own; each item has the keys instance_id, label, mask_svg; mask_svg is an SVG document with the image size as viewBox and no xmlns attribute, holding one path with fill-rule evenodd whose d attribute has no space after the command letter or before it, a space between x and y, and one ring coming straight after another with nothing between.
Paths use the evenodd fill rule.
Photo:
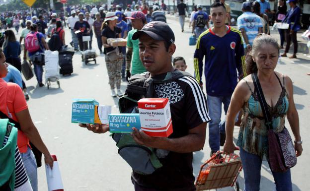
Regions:
<instances>
[{"instance_id":1,"label":"metal handcart with orange load pulled by the grey-haired woman","mask_svg":"<svg viewBox=\"0 0 310 191\"><path fill-rule=\"evenodd\" d=\"M234 187L239 191L237 177L242 170L241 159L237 154L226 155L218 151L201 165L195 186L197 191Z\"/></svg>"}]
</instances>

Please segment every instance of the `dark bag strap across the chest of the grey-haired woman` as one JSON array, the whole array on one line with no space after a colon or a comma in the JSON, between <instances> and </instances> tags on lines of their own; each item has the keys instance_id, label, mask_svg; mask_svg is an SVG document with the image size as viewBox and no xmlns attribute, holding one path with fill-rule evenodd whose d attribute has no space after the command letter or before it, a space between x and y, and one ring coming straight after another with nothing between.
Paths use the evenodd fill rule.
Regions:
<instances>
[{"instance_id":1,"label":"dark bag strap across the chest of the grey-haired woman","mask_svg":"<svg viewBox=\"0 0 310 191\"><path fill-rule=\"evenodd\" d=\"M263 90L262 90L262 88L260 86L260 83L259 83L259 80L258 80L258 77L257 77L257 73L252 73L251 76L252 76L252 80L253 80L253 83L254 83L256 94L257 94L257 97L258 97L258 100L259 100L259 103L260 103L260 106L261 106L261 109L262 109L262 112L263 112L263 115L264 115L265 125L268 128L268 130L272 129L272 126L271 126L271 122L272 122L271 121L271 116L270 116L270 113L269 113L269 110L268 110L268 105L267 105L267 102L265 100L265 96L264 96Z\"/></svg>"}]
</instances>

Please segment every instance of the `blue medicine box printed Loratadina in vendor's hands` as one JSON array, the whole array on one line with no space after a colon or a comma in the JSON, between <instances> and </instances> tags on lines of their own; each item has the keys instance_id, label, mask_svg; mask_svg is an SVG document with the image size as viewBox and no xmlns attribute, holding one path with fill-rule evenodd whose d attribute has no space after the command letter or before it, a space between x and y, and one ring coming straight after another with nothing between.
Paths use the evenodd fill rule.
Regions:
<instances>
[{"instance_id":1,"label":"blue medicine box printed Loratadina in vendor's hands","mask_svg":"<svg viewBox=\"0 0 310 191\"><path fill-rule=\"evenodd\" d=\"M132 127L141 128L139 114L110 114L110 132L130 133Z\"/></svg>"}]
</instances>

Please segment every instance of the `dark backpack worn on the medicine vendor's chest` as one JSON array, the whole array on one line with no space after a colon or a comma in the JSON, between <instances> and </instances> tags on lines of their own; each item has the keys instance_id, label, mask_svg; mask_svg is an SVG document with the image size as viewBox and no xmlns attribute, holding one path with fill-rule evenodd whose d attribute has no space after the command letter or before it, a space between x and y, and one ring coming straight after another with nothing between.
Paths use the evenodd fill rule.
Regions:
<instances>
[{"instance_id":1,"label":"dark backpack worn on the medicine vendor's chest","mask_svg":"<svg viewBox=\"0 0 310 191\"><path fill-rule=\"evenodd\" d=\"M154 85L174 81L183 76L191 76L187 72L167 72L163 79L150 78L150 72L132 76L127 85L125 95L118 102L120 113L139 113L138 101L142 98L154 97ZM126 160L134 172L150 175L162 167L160 158L164 158L169 151L139 145L129 133L113 133L118 154Z\"/></svg>"}]
</instances>

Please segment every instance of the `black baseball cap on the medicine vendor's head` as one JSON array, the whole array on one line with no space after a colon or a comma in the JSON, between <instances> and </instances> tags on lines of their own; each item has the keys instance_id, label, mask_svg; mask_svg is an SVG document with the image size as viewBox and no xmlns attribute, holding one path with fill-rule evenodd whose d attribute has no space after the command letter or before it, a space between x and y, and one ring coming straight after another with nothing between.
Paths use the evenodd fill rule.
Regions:
<instances>
[{"instance_id":1,"label":"black baseball cap on the medicine vendor's head","mask_svg":"<svg viewBox=\"0 0 310 191\"><path fill-rule=\"evenodd\" d=\"M146 34L157 41L165 41L168 45L174 44L174 33L165 22L149 22L140 31L135 32L132 39L137 40L142 34Z\"/></svg>"}]
</instances>

